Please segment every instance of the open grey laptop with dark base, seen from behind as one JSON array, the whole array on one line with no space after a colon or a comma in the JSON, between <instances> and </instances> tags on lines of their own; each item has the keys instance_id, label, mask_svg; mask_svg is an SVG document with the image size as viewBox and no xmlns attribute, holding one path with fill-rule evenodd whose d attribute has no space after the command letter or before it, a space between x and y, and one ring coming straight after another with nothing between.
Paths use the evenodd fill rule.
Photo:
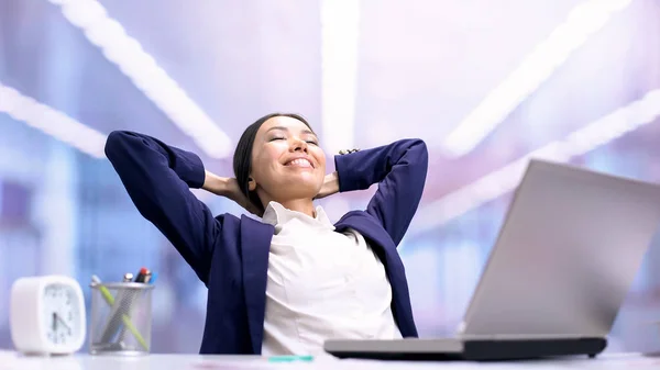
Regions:
<instances>
[{"instance_id":1,"label":"open grey laptop with dark base, seen from behind","mask_svg":"<svg viewBox=\"0 0 660 370\"><path fill-rule=\"evenodd\" d=\"M659 224L660 186L532 159L453 338L331 339L324 350L397 360L594 357Z\"/></svg>"}]
</instances>

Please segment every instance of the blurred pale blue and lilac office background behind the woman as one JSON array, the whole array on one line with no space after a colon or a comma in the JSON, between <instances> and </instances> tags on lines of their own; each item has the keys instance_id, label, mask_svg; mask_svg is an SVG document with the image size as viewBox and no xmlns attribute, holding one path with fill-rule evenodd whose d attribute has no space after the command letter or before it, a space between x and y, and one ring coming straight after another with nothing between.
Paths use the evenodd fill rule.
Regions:
<instances>
[{"instance_id":1,"label":"blurred pale blue and lilac office background behind the woman","mask_svg":"<svg viewBox=\"0 0 660 370\"><path fill-rule=\"evenodd\" d=\"M206 288L135 211L105 137L151 134L229 176L273 111L307 116L329 154L427 142L400 254L421 336L450 334L530 156L660 181L660 2L0 1L0 348L16 278L70 274L89 298L92 273L146 266L154 351L197 352ZM321 204L336 221L371 193ZM660 238L609 350L660 349L653 321Z\"/></svg>"}]
</instances>

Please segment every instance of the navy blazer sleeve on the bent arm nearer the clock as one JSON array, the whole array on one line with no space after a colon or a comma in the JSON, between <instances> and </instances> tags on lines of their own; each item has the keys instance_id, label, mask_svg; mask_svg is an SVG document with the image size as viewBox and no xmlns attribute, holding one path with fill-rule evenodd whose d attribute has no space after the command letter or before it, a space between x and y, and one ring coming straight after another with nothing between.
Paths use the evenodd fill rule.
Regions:
<instances>
[{"instance_id":1,"label":"navy blazer sleeve on the bent arm nearer the clock","mask_svg":"<svg viewBox=\"0 0 660 370\"><path fill-rule=\"evenodd\" d=\"M167 237L206 284L222 225L189 190L204 184L201 159L128 131L108 136L106 156L138 211Z\"/></svg>"}]
</instances>

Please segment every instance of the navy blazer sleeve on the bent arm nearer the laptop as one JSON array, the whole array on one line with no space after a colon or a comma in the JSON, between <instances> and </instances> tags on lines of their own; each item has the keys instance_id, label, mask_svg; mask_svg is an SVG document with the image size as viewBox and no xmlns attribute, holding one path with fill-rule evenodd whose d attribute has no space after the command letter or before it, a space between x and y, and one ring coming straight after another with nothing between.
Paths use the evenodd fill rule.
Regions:
<instances>
[{"instance_id":1,"label":"navy blazer sleeve on the bent arm nearer the laptop","mask_svg":"<svg viewBox=\"0 0 660 370\"><path fill-rule=\"evenodd\" d=\"M339 191L378 190L366 212L376 217L398 245L417 211L428 169L428 150L421 139L402 139L389 145L334 157Z\"/></svg>"}]
</instances>

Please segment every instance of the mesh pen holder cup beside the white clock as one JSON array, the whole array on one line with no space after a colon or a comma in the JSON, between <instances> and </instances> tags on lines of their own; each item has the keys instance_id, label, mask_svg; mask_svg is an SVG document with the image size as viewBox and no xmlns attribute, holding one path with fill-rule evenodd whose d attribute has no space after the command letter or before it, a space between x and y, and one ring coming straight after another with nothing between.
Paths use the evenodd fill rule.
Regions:
<instances>
[{"instance_id":1,"label":"mesh pen holder cup beside the white clock","mask_svg":"<svg viewBox=\"0 0 660 370\"><path fill-rule=\"evenodd\" d=\"M153 289L140 282L91 284L91 355L150 352Z\"/></svg>"}]
</instances>

